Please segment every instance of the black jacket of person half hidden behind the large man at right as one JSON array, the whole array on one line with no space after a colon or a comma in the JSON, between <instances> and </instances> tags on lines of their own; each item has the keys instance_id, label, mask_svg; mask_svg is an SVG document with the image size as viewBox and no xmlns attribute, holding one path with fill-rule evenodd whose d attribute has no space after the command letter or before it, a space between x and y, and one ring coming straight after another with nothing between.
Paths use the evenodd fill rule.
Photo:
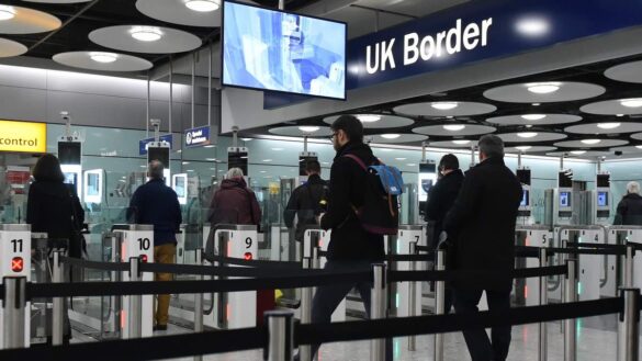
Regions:
<instances>
[{"instance_id":1,"label":"black jacket of person half hidden behind the large man at right","mask_svg":"<svg viewBox=\"0 0 642 361\"><path fill-rule=\"evenodd\" d=\"M432 221L435 223L432 227L432 245L437 247L437 240L439 234L443 227L443 218L446 214L454 204L454 200L459 194L461 184L463 183L463 172L461 169L451 171L443 176L435 187L428 193L428 202L426 202L426 221Z\"/></svg>"}]
</instances>

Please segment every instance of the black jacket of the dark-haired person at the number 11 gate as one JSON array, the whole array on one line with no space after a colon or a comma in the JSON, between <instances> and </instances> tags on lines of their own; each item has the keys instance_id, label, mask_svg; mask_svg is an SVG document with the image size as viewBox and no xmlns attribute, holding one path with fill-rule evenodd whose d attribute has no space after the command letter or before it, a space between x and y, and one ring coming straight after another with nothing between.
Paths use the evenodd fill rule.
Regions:
<instances>
[{"instance_id":1,"label":"black jacket of the dark-haired person at the number 11 gate","mask_svg":"<svg viewBox=\"0 0 642 361\"><path fill-rule=\"evenodd\" d=\"M33 182L26 200L26 223L31 224L34 233L47 233L49 238L70 239L85 223L85 211L76 189L63 182Z\"/></svg>"}]
</instances>

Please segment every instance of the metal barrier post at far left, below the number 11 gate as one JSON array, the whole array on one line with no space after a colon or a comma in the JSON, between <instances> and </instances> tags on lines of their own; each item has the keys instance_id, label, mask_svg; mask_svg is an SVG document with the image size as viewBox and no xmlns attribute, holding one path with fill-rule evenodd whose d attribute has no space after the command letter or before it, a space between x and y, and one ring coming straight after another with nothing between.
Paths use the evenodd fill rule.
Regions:
<instances>
[{"instance_id":1,"label":"metal barrier post at far left, below the number 11 gate","mask_svg":"<svg viewBox=\"0 0 642 361\"><path fill-rule=\"evenodd\" d=\"M4 300L2 302L4 348L25 348L26 278L5 277L2 283L4 283Z\"/></svg>"}]
</instances>

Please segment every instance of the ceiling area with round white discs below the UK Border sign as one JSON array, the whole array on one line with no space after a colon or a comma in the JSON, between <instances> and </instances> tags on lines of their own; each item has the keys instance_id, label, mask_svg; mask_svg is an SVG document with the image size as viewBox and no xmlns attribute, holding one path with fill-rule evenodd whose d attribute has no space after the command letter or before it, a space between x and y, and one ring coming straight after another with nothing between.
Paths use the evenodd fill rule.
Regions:
<instances>
[{"instance_id":1,"label":"ceiling area with round white discs below the UK Border sign","mask_svg":"<svg viewBox=\"0 0 642 361\"><path fill-rule=\"evenodd\" d=\"M517 150L515 147L525 147L522 151L526 154L613 158L619 157L615 155L616 150L623 150L624 157L640 157L642 101L639 108L622 106L620 101L642 98L641 59L642 55L638 55L583 65L356 109L350 114L380 114L383 119L403 116L413 122L397 126L388 123L387 128L372 126L376 123L364 123L369 138L393 134L401 135L397 139L403 139L406 134L424 134L429 136L428 146L470 149L483 134L491 133L504 138L514 151ZM528 87L550 84L559 86L559 89L550 93L528 90ZM438 110L431 106L435 103L457 103L457 106ZM288 124L322 126L337 115L303 119ZM267 134L267 127L247 133ZM421 145L420 142L392 143Z\"/></svg>"}]
</instances>

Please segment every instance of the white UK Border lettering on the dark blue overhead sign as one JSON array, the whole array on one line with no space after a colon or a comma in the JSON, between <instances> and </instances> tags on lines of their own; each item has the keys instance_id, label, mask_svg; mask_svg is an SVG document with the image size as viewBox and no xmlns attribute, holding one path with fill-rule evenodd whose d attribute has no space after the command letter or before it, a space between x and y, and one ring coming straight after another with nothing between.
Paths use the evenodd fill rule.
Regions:
<instances>
[{"instance_id":1,"label":"white UK Border lettering on the dark blue overhead sign","mask_svg":"<svg viewBox=\"0 0 642 361\"><path fill-rule=\"evenodd\" d=\"M493 18L483 20L481 24L470 23L462 25L461 19L455 21L453 27L435 35L420 37L417 33L404 36L404 66L413 65L421 58L428 61L444 55L461 53L462 49L473 50L477 46L488 45L488 29L493 25ZM365 47L365 70L372 75L385 71L388 67L396 67L394 58L395 38L380 42ZM462 46L463 45L463 46Z\"/></svg>"}]
</instances>

